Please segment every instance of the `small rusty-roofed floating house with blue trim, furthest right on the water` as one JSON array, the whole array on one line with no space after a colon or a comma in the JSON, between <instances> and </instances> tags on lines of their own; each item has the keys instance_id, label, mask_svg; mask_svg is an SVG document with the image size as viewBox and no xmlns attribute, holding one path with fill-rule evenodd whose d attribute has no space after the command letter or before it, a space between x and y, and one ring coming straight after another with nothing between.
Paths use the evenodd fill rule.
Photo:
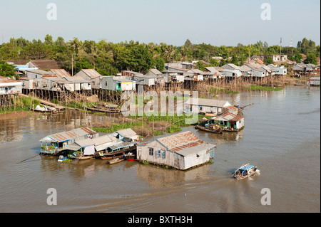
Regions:
<instances>
[{"instance_id":1,"label":"small rusty-roofed floating house with blue trim, furthest right on the water","mask_svg":"<svg viewBox=\"0 0 321 227\"><path fill-rule=\"evenodd\" d=\"M225 112L210 118L209 124L220 126L223 131L238 132L244 128L244 117L235 115L233 112Z\"/></svg>"}]
</instances>

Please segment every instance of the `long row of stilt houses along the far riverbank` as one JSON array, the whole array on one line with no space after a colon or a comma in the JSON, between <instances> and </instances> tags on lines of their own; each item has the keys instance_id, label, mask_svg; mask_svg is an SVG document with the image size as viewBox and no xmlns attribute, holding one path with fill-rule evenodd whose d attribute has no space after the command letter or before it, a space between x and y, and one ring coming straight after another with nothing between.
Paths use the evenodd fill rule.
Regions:
<instances>
[{"instance_id":1,"label":"long row of stilt houses along the far riverbank","mask_svg":"<svg viewBox=\"0 0 321 227\"><path fill-rule=\"evenodd\" d=\"M220 57L213 57L218 58ZM265 65L263 60L272 58L275 64ZM319 60L319 59L318 59ZM203 60L201 60L203 61ZM136 90L138 85L155 86L168 83L197 83L203 80L220 80L233 78L265 78L270 75L287 75L287 68L280 63L290 65L293 75L300 77L307 73L314 73L317 65L295 63L287 59L286 55L252 56L242 66L233 63L221 67L207 67L205 70L196 68L197 61L165 63L165 70L160 72L151 68L148 73L142 74L123 70L118 75L104 76L95 69L82 69L75 75L70 75L62 69L58 60L7 60L14 65L19 79L0 78L0 94L21 93L22 89L28 90L53 90L53 91L78 91L78 90ZM319 62L320 64L320 62Z\"/></svg>"}]
</instances>

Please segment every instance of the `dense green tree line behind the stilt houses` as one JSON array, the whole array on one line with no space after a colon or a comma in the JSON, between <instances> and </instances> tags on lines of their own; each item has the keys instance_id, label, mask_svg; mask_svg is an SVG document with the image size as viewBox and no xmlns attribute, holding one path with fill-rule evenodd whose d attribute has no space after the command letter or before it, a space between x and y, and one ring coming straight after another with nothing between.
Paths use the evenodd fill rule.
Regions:
<instances>
[{"instance_id":1,"label":"dense green tree line behind the stilt houses","mask_svg":"<svg viewBox=\"0 0 321 227\"><path fill-rule=\"evenodd\" d=\"M280 46L269 46L267 42L258 41L250 45L238 43L237 46L212 46L210 44L193 44L185 41L183 46L173 46L166 43L139 43L126 41L111 43L107 41L80 41L73 38L65 41L58 37L46 35L44 41L25 38L11 38L8 43L0 45L0 60L62 60L63 68L71 72L71 56L74 59L75 72L83 68L95 68L102 75L116 75L121 70L134 70L146 73L150 68L163 70L164 63L174 61L205 60L213 66L225 63L243 65L249 56L255 54L279 54ZM303 38L297 47L282 47L282 54L287 54L290 60L300 62L307 55L307 63L315 63L320 57L320 45ZM213 56L223 59L218 61ZM309 62L308 62L309 61ZM201 63L198 68L203 68Z\"/></svg>"}]
</instances>

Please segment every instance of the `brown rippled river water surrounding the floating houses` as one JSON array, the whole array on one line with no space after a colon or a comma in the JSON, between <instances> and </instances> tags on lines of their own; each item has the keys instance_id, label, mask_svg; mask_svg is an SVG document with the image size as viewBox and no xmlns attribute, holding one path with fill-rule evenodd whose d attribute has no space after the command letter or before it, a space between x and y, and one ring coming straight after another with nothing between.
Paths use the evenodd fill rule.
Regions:
<instances>
[{"instance_id":1,"label":"brown rippled river water surrounding the floating houses","mask_svg":"<svg viewBox=\"0 0 321 227\"><path fill-rule=\"evenodd\" d=\"M243 111L245 129L210 134L183 128L218 147L213 164L188 171L40 157L39 139L81 127L82 112L0 120L0 212L320 212L320 88L219 98L254 103ZM232 179L245 163L260 174ZM47 204L49 188L56 189L56 206ZM262 189L270 189L270 205L261 204Z\"/></svg>"}]
</instances>

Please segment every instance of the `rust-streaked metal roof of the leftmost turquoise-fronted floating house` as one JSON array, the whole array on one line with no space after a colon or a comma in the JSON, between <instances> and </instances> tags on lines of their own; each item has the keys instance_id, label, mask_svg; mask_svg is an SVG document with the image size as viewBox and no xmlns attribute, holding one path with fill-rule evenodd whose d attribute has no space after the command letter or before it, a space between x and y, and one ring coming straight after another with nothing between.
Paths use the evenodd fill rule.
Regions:
<instances>
[{"instance_id":1,"label":"rust-streaked metal roof of the leftmost turquoise-fronted floating house","mask_svg":"<svg viewBox=\"0 0 321 227\"><path fill-rule=\"evenodd\" d=\"M62 141L66 141L68 139L82 137L82 136L85 136L86 134L97 134L97 132L91 130L88 127L81 127L81 128L75 129L75 130L69 130L66 132L58 132L55 134L50 134L49 136L44 137L40 141L54 140L56 142L62 142Z\"/></svg>"}]
</instances>

